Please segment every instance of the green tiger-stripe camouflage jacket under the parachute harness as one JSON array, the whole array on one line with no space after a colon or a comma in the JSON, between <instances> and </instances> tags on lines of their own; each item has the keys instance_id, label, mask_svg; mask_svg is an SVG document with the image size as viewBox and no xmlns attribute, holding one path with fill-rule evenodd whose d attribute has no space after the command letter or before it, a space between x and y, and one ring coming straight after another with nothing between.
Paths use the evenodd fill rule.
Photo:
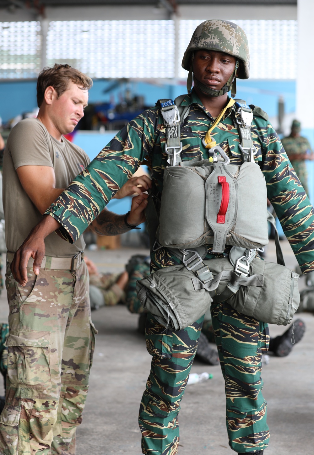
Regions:
<instances>
[{"instance_id":1,"label":"green tiger-stripe camouflage jacket under the parachute harness","mask_svg":"<svg viewBox=\"0 0 314 455\"><path fill-rule=\"evenodd\" d=\"M213 117L194 91L185 96L181 104L190 106L189 114L181 126L182 160L191 160L199 154L206 159L208 150L203 147L202 139L213 123ZM265 176L268 198L301 269L303 273L308 273L314 270L313 207L267 114L260 108L251 107L251 131L257 148L255 161ZM235 115L232 106L211 136L229 155L231 164L241 164ZM47 209L46 213L61 223L64 238L75 241L144 160L152 170L155 191L161 194L163 171L167 166L165 143L166 128L159 107L147 109L119 131ZM207 258L213 257L209 247ZM166 248L159 248L152 253L153 268L173 265L177 261Z\"/></svg>"}]
</instances>

